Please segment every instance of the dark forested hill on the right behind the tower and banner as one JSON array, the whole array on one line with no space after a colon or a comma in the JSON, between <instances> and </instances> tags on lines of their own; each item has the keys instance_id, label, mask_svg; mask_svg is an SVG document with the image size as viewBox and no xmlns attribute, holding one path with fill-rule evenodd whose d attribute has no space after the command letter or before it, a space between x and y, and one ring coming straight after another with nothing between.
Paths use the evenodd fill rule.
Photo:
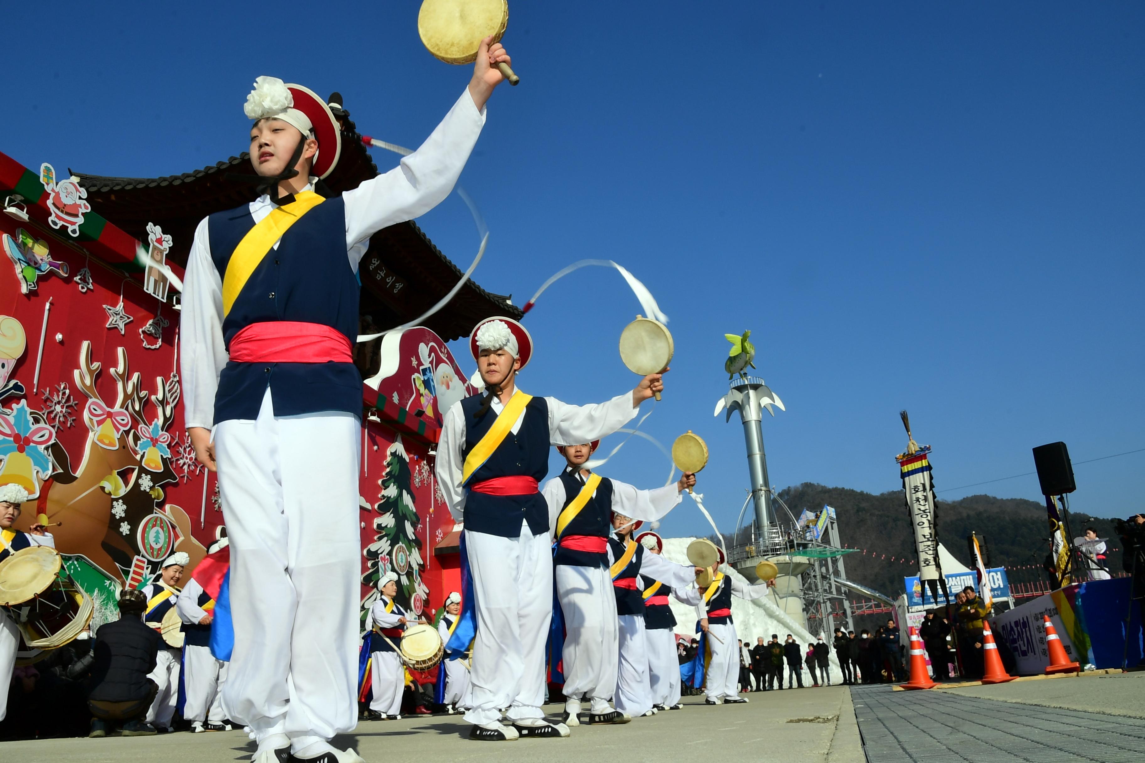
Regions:
<instances>
[{"instance_id":1,"label":"dark forested hill on the right behind the tower and banner","mask_svg":"<svg viewBox=\"0 0 1145 763\"><path fill-rule=\"evenodd\" d=\"M819 510L824 503L835 507L843 545L877 551L878 556L869 553L847 555L847 577L855 582L897 597L903 593L903 575L918 573L918 567L909 564L917 557L901 490L872 495L846 487L804 483L781 491L780 498L797 517L803 509ZM970 566L966 537L977 532L979 538L986 538L988 564L1010 567L1011 581L1044 579L1039 569L1016 569L1040 567L1049 550L1043 504L1021 498L970 495L957 501L940 500L935 508L939 540L963 564ZM1111 551L1110 562L1114 571L1121 570L1121 543L1113 532L1113 523L1085 514L1071 515L1071 530L1075 535L1081 535L1088 525L1096 527L1098 537L1110 539L1111 549L1119 549ZM884 554L885 561L881 558ZM890 562L892 556L893 563ZM899 564L903 557L908 563Z\"/></svg>"}]
</instances>

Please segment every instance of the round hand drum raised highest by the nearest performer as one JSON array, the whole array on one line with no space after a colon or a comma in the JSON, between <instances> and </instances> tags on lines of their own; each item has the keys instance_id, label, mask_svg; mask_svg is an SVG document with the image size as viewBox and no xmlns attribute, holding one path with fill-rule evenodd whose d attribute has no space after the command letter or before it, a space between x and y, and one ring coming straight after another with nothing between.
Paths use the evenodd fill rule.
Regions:
<instances>
[{"instance_id":1,"label":"round hand drum raised highest by the nearest performer","mask_svg":"<svg viewBox=\"0 0 1145 763\"><path fill-rule=\"evenodd\" d=\"M507 0L424 0L418 11L423 45L447 64L473 63L481 41L499 42L507 25ZM505 62L497 67L510 85L521 81Z\"/></svg>"}]
</instances>

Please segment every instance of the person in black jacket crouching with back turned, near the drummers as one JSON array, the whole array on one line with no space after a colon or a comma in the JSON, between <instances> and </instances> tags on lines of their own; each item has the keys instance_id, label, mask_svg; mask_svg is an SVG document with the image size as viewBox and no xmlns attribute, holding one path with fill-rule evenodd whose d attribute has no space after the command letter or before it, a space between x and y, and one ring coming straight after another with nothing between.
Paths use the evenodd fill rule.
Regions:
<instances>
[{"instance_id":1,"label":"person in black jacket crouching with back turned, near the drummers","mask_svg":"<svg viewBox=\"0 0 1145 763\"><path fill-rule=\"evenodd\" d=\"M144 723L159 688L148 678L159 654L159 634L143 625L147 595L127 589L119 595L119 620L95 631L93 689L87 696L92 718L88 737L106 737L116 722L123 736L147 737L155 726Z\"/></svg>"}]
</instances>

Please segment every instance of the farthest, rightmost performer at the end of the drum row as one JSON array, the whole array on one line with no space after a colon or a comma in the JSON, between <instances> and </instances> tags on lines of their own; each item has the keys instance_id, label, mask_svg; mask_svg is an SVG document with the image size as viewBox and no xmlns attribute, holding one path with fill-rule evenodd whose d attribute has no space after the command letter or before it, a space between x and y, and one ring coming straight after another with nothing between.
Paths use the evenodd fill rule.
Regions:
<instances>
[{"instance_id":1,"label":"farthest, rightmost performer at the end of the drum row","mask_svg":"<svg viewBox=\"0 0 1145 763\"><path fill-rule=\"evenodd\" d=\"M710 586L680 591L685 604L696 607L700 627L708 634L704 639L709 652L708 671L704 675L705 705L731 705L747 702L740 697L740 642L732 621L732 597L743 599L763 598L767 595L767 583L748 586L722 572L724 550L719 550L719 564Z\"/></svg>"}]
</instances>

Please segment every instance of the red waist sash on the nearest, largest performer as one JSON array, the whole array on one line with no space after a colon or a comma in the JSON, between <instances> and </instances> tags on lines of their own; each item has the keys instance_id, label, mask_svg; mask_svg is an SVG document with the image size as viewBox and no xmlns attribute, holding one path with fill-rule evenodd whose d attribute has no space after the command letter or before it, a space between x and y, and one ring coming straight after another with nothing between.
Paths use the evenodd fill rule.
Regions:
<instances>
[{"instance_id":1,"label":"red waist sash on the nearest, largest performer","mask_svg":"<svg viewBox=\"0 0 1145 763\"><path fill-rule=\"evenodd\" d=\"M235 363L354 363L346 334L297 320L245 326L231 337L228 349Z\"/></svg>"}]
</instances>

